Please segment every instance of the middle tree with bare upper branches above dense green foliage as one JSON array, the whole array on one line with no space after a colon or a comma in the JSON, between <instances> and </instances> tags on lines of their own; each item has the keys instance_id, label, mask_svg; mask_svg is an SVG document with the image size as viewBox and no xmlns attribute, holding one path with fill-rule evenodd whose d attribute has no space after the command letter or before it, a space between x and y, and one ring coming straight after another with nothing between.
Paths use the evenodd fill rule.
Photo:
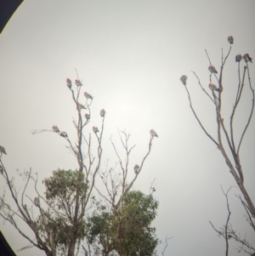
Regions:
<instances>
[{"instance_id":1,"label":"middle tree with bare upper branches above dense green foliage","mask_svg":"<svg viewBox=\"0 0 255 256\"><path fill-rule=\"evenodd\" d=\"M157 244L155 229L150 227L151 221L156 217L158 205L152 196L155 188L150 188L149 196L131 189L144 168L155 135L150 136L148 151L141 162L129 168L131 151L135 145L129 147L130 134L126 131L119 130L118 134L122 142L122 153L116 150L111 138L117 162L116 166L110 169L106 162L105 169L99 172L106 192L96 187L102 198L102 202L98 205L102 204L104 207L101 213L95 211L91 218L93 226L88 243L93 246L94 252L101 251L103 255L125 256L133 252L150 255ZM122 155L125 156L124 159Z\"/></svg>"}]
</instances>

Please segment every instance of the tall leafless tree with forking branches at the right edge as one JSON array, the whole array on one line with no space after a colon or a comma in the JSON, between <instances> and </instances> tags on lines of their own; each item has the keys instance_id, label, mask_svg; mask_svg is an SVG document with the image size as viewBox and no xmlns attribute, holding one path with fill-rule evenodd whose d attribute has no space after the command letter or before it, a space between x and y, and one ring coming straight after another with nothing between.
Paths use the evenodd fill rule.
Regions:
<instances>
[{"instance_id":1,"label":"tall leafless tree with forking branches at the right edge","mask_svg":"<svg viewBox=\"0 0 255 256\"><path fill-rule=\"evenodd\" d=\"M223 94L223 90L224 90L224 84L223 84L224 65L226 63L226 60L228 60L230 51L231 51L231 43L230 43L230 47L229 47L229 52L228 52L228 54L226 55L225 58L224 58L224 54L223 54L223 50L222 50L222 64L221 64L218 76L217 76L218 72L216 70L213 71L213 69L211 69L211 75L209 77L211 86L213 84L212 83L212 76L215 77L217 82L218 82L218 88L217 87L215 87L215 88L212 87L211 88L212 95L208 94L207 90L205 88L203 88L203 86L201 85L201 81L200 81L199 77L197 77L197 75L193 71L193 73L195 74L195 77L197 77L197 80L198 80L198 83L199 83L201 89L207 95L208 99L211 100L212 105L214 105L214 107L215 107L216 122L217 122L217 137L216 138L213 138L213 136L207 131L205 126L202 124L200 118L197 116L197 114L196 114L196 112L195 112L195 110L192 106L189 89L187 88L186 84L184 84L184 87L187 91L187 94L188 94L188 97L189 97L189 100L190 100L190 108L191 108L197 122L199 122L202 130L205 132L205 134L207 134L207 137L209 139L211 139L212 142L215 145L217 145L218 150L221 152L222 156L224 156L225 162L229 167L230 174L233 175L236 184L239 186L239 188L241 190L241 193L242 193L242 195L244 196L244 198L246 200L249 211L252 213L253 218L255 218L255 208L254 208L252 199L249 196L248 192L246 191L246 188L245 188L245 185L244 185L244 175L243 175L243 171L242 171L242 167L241 167L241 157L240 157L241 143L242 143L242 141L244 139L244 136L246 134L246 130L249 127L249 124L251 122L252 113L253 113L253 110L254 110L254 89L252 88L252 81L251 81L251 77L250 77L250 70L249 70L249 64L248 64L249 59L246 59L244 57L246 65L244 65L242 75L241 75L241 71L240 71L241 60L238 61L238 59L237 59L239 82L238 82L238 87L236 89L236 97L235 97L235 102L234 102L234 105L233 105L233 110L231 111L230 117L229 117L229 130L228 130L225 127L224 117L222 115L222 105L223 105L223 102L224 102L224 98L223 98L222 94ZM207 53L207 50L206 50L206 53ZM209 71L210 71L210 67L212 67L212 68L214 68L214 67L212 66L212 62L211 62L208 54L207 54L207 57L208 57L208 60L209 60L209 63L210 63L210 66L209 66ZM237 58L237 56L236 56L236 58ZM252 104L251 104L251 109L248 110L249 111L249 116L248 116L247 121L244 125L243 132L241 133L241 138L240 139L235 139L233 121L234 121L234 118L236 116L236 109L239 106L239 103L240 103L240 100L241 100L241 95L242 95L242 92L243 92L243 88L245 86L246 74L248 76L248 85L249 85L250 92L251 92ZM226 139L226 141L227 141L226 145L224 145L224 142L223 142L224 139ZM227 149L230 150L230 154L227 153Z\"/></svg>"}]
</instances>

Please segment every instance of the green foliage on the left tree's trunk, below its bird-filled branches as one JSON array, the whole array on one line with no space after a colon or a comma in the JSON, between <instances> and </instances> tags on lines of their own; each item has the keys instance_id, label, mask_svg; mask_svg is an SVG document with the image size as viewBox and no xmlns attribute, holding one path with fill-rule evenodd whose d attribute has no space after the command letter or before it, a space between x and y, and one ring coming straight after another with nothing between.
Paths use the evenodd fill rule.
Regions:
<instances>
[{"instance_id":1,"label":"green foliage on the left tree's trunk, below its bird-filled branches","mask_svg":"<svg viewBox=\"0 0 255 256\"><path fill-rule=\"evenodd\" d=\"M56 170L53 176L44 179L46 202L50 206L45 213L48 226L54 237L56 247L62 253L66 251L72 239L77 242L84 239L87 224L83 216L82 206L87 199L88 182L84 174L72 170ZM75 208L78 201L79 208ZM42 223L42 216L37 219L37 230L41 236L47 237Z\"/></svg>"}]
</instances>

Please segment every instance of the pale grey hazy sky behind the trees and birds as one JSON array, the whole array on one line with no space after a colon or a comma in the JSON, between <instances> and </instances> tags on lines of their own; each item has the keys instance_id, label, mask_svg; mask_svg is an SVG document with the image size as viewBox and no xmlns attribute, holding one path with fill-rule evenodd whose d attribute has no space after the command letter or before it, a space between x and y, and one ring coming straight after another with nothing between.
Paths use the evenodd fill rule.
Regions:
<instances>
[{"instance_id":1,"label":"pale grey hazy sky behind the trees and birds","mask_svg":"<svg viewBox=\"0 0 255 256\"><path fill-rule=\"evenodd\" d=\"M149 193L156 179L155 196L160 202L156 234L161 240L173 236L165 255L224 255L224 240L209 220L216 227L224 225L227 209L220 185L227 190L235 180L220 151L195 121L179 77L189 77L195 110L215 136L213 105L190 70L207 88L205 49L219 71L221 49L227 54L227 37L235 38L224 68L224 120L229 123L237 87L235 55L248 53L255 59L254 10L254 0L24 1L0 35L0 145L8 153L3 162L9 175L15 176L17 168L32 168L44 179L54 169L77 168L76 159L65 149L65 139L53 133L31 134L33 129L56 124L76 139L72 124L76 110L65 78L76 79L77 69L83 91L94 95L87 133L90 127L100 126L99 110L106 111L104 162L110 159L115 165L110 137L121 148L117 128L125 128L131 134L130 145L136 145L130 159L132 178L134 164L147 151L150 128L159 135L133 188ZM254 65L250 65L253 88ZM237 138L251 104L246 90L237 111ZM246 189L253 202L254 129L253 118L241 150ZM16 182L22 185L22 180ZM2 193L1 178L0 187ZM239 194L237 188L229 194L231 223L254 246L254 232L235 196ZM1 221L0 229L14 251L28 244L10 225ZM237 246L230 241L230 255L246 255L238 253ZM43 255L37 249L17 255L35 253Z\"/></svg>"}]
</instances>

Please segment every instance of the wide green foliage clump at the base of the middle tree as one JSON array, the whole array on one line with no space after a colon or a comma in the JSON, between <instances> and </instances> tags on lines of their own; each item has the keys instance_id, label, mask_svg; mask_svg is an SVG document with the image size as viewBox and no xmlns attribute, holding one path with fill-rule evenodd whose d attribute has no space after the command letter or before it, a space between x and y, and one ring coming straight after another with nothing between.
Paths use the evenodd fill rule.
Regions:
<instances>
[{"instance_id":1,"label":"wide green foliage clump at the base of the middle tree","mask_svg":"<svg viewBox=\"0 0 255 256\"><path fill-rule=\"evenodd\" d=\"M105 255L114 250L121 256L152 255L157 238L156 229L150 224L156 218L157 208L153 196L140 191L127 192L115 214L96 212L89 219L88 242L99 242Z\"/></svg>"}]
</instances>

